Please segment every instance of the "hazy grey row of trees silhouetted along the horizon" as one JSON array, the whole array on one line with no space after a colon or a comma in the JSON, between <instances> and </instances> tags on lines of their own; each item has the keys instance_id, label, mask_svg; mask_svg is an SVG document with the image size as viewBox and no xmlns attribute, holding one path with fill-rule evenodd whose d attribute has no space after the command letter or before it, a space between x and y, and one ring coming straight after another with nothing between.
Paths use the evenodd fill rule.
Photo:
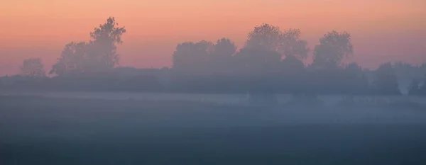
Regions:
<instances>
[{"instance_id":1,"label":"hazy grey row of trees silhouetted along the horizon","mask_svg":"<svg viewBox=\"0 0 426 165\"><path fill-rule=\"evenodd\" d=\"M241 48L229 38L179 43L171 58L173 67L163 69L116 67L120 57L116 49L124 33L125 27L108 18L94 28L88 42L65 45L47 73L53 77L47 77L40 58L25 59L20 88L400 95L398 72L404 75L411 72L408 68L417 68L422 75L414 77L408 91L426 95L426 64L384 63L370 71L354 62L344 63L354 55L346 31L325 33L310 50L299 29L281 30L263 23L248 33ZM310 54L313 61L305 65Z\"/></svg>"}]
</instances>

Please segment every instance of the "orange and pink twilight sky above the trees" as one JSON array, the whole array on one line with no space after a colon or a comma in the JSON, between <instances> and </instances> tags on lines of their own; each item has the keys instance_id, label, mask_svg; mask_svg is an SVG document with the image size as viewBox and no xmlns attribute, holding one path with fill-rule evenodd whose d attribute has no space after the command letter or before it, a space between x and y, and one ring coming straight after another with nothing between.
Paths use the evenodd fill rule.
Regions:
<instances>
[{"instance_id":1,"label":"orange and pink twilight sky above the trees","mask_svg":"<svg viewBox=\"0 0 426 165\"><path fill-rule=\"evenodd\" d=\"M351 61L426 62L424 0L0 0L0 75L28 57L50 69L68 42L89 40L109 16L126 27L120 66L170 67L179 42L230 38L256 25L298 28L314 47L330 30L352 35Z\"/></svg>"}]
</instances>

